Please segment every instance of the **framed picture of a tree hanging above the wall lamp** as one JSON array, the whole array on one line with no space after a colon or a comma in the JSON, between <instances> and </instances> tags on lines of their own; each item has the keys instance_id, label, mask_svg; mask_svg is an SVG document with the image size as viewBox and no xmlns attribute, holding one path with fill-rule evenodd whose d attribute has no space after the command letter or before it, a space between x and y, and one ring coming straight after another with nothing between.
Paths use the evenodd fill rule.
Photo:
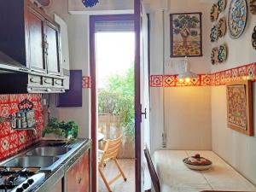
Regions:
<instances>
[{"instance_id":1,"label":"framed picture of a tree hanging above the wall lamp","mask_svg":"<svg viewBox=\"0 0 256 192\"><path fill-rule=\"evenodd\" d=\"M171 56L201 56L201 13L172 14Z\"/></svg>"}]
</instances>

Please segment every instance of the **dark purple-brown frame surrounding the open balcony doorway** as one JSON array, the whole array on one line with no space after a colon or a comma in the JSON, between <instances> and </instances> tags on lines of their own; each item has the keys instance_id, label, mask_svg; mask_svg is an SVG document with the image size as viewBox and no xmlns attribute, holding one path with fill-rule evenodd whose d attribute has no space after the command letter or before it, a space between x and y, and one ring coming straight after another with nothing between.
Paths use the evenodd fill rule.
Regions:
<instances>
[{"instance_id":1,"label":"dark purple-brown frame surrounding the open balcony doorway","mask_svg":"<svg viewBox=\"0 0 256 192\"><path fill-rule=\"evenodd\" d=\"M97 129L96 129L96 39L95 24L97 21L111 21L111 20L134 20L136 26L135 15L90 15L90 79L91 79L91 139L92 139L92 192L96 192L96 173L97 173L97 157L96 157L96 143L97 143ZM140 36L140 34L138 34ZM135 27L135 156L136 156L136 192L141 191L141 137L140 137L140 124L141 124L141 108L140 108L140 41L137 47L137 30ZM139 52L137 52L139 51ZM139 118L138 118L139 117Z\"/></svg>"}]
</instances>

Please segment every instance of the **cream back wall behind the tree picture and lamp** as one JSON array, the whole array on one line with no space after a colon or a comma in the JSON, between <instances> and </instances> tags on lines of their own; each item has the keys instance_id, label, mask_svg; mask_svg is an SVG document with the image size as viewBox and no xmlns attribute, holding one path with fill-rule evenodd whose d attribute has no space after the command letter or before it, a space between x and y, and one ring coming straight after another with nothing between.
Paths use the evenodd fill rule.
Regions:
<instances>
[{"instance_id":1,"label":"cream back wall behind the tree picture and lamp","mask_svg":"<svg viewBox=\"0 0 256 192\"><path fill-rule=\"evenodd\" d=\"M151 5L153 6L149 6ZM165 74L177 74L183 64L181 58L170 58L170 19L171 13L202 12L203 56L189 58L191 71L210 73L210 48L208 31L209 6L201 0L169 0L147 4L151 24L151 74L164 74L163 67L163 20L162 6L165 9ZM148 3L148 1L146 1ZM165 95L163 96L163 92ZM161 148L164 127L167 134L167 148L172 149L211 149L211 100L210 88L151 88L151 147ZM165 102L163 102L165 100ZM202 102L203 101L203 102ZM165 108L165 110L164 110ZM165 113L164 113L165 111ZM165 114L165 118L164 117ZM186 120L184 120L186 119ZM189 134L188 134L189 133Z\"/></svg>"}]
</instances>

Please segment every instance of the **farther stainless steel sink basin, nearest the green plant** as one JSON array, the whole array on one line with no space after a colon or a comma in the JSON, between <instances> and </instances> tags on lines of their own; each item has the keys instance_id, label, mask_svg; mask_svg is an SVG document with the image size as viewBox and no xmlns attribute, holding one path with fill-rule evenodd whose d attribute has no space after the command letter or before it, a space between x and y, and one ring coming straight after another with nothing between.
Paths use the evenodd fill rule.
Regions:
<instances>
[{"instance_id":1,"label":"farther stainless steel sink basin, nearest the green plant","mask_svg":"<svg viewBox=\"0 0 256 192\"><path fill-rule=\"evenodd\" d=\"M26 155L33 156L59 156L67 154L72 148L67 147L39 147L27 152Z\"/></svg>"}]
</instances>

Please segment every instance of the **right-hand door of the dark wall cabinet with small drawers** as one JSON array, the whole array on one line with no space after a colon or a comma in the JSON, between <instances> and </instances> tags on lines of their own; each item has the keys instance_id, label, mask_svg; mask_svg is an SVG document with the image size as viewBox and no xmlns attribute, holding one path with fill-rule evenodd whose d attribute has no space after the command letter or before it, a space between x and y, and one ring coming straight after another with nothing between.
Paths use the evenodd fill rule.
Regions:
<instances>
[{"instance_id":1,"label":"right-hand door of the dark wall cabinet with small drawers","mask_svg":"<svg viewBox=\"0 0 256 192\"><path fill-rule=\"evenodd\" d=\"M56 26L46 22L45 25L47 70L49 74L61 74L60 39Z\"/></svg>"}]
</instances>

